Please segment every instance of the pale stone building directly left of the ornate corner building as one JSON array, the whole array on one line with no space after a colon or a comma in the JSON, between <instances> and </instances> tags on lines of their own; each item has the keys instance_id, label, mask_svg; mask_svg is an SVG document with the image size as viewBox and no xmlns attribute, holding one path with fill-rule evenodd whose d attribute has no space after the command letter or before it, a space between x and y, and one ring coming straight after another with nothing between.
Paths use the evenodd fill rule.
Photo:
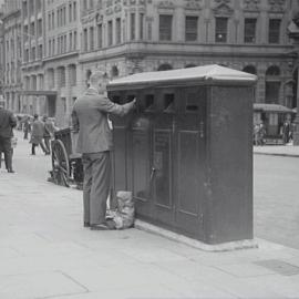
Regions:
<instances>
[{"instance_id":1,"label":"pale stone building directly left of the ornate corner building","mask_svg":"<svg viewBox=\"0 0 299 299\"><path fill-rule=\"evenodd\" d=\"M70 124L70 111L82 90L79 84L80 1L45 1L45 55L43 70L48 95L48 114L59 126Z\"/></svg>"}]
</instances>

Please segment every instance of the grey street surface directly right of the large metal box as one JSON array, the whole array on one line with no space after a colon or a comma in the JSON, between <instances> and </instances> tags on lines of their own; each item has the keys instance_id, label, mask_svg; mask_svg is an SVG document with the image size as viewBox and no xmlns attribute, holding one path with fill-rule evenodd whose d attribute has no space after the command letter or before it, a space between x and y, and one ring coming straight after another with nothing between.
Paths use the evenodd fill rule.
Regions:
<instances>
[{"instance_id":1,"label":"grey street surface directly right of the large metal box","mask_svg":"<svg viewBox=\"0 0 299 299\"><path fill-rule=\"evenodd\" d=\"M299 158L255 155L255 236L299 248Z\"/></svg>"}]
</instances>

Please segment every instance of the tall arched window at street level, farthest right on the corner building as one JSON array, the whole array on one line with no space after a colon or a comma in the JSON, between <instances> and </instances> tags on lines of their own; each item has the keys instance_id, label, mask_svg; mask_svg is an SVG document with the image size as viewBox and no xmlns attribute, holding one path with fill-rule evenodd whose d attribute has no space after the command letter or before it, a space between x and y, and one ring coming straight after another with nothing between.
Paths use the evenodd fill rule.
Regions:
<instances>
[{"instance_id":1,"label":"tall arched window at street level, farthest right on the corner building","mask_svg":"<svg viewBox=\"0 0 299 299\"><path fill-rule=\"evenodd\" d=\"M276 65L271 65L266 71L266 103L279 103L280 93L280 70Z\"/></svg>"}]
</instances>

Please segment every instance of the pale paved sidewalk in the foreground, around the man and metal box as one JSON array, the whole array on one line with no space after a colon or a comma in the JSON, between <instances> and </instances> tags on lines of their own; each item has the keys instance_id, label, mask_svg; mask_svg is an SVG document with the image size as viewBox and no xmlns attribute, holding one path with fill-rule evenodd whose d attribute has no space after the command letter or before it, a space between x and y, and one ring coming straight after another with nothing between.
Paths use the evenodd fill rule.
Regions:
<instances>
[{"instance_id":1,"label":"pale paved sidewalk in the foreground, around the man and metal box","mask_svg":"<svg viewBox=\"0 0 299 299\"><path fill-rule=\"evenodd\" d=\"M82 227L82 193L0 171L0 298L299 298L299 250L207 252Z\"/></svg>"}]
</instances>

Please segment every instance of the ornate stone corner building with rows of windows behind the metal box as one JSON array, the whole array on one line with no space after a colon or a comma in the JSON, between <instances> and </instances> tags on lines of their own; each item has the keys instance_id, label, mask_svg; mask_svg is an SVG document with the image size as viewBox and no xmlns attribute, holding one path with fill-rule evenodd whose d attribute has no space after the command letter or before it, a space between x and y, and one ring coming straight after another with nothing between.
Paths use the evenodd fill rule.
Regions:
<instances>
[{"instance_id":1,"label":"ornate stone corner building with rows of windows behind the metal box","mask_svg":"<svg viewBox=\"0 0 299 299\"><path fill-rule=\"evenodd\" d=\"M258 75L257 102L292 106L289 0L82 1L80 63L113 79L217 63Z\"/></svg>"}]
</instances>

